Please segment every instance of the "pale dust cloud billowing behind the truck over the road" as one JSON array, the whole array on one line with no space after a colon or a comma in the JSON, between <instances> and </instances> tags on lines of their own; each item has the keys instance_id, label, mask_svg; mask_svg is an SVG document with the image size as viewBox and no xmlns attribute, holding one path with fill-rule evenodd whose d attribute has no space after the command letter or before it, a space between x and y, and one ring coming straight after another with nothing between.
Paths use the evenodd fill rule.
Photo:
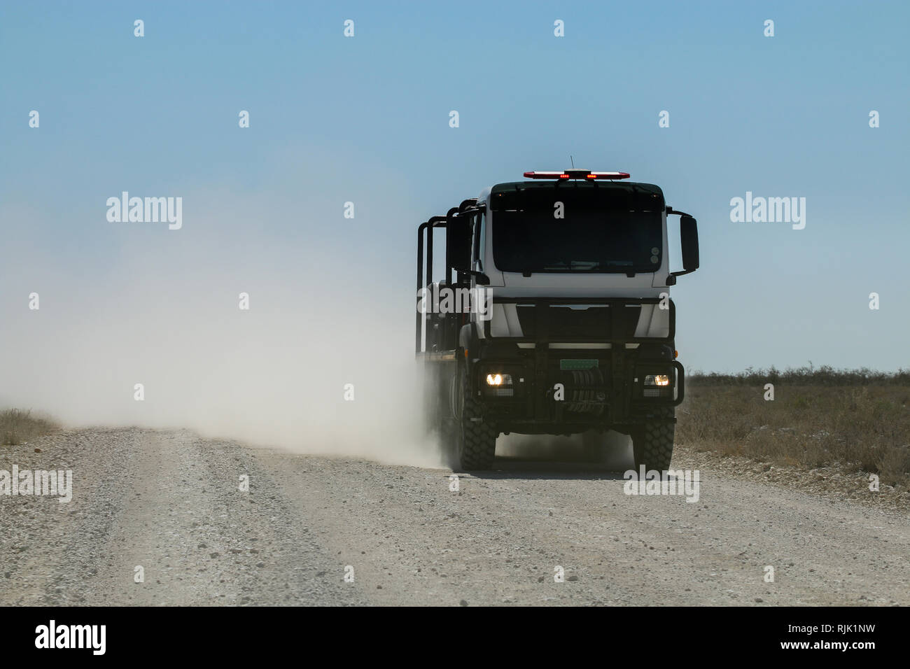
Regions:
<instances>
[{"instance_id":1,"label":"pale dust cloud billowing behind the truck over the road","mask_svg":"<svg viewBox=\"0 0 910 669\"><path fill-rule=\"evenodd\" d=\"M379 252L379 234L362 224L344 234L319 234L312 222L272 230L242 209L194 218L187 207L172 231L106 223L99 208L83 248L47 226L11 234L0 269L0 407L45 411L69 427L188 428L442 466L420 427L416 222L381 230L391 240ZM40 309L29 309L32 293Z\"/></svg>"}]
</instances>

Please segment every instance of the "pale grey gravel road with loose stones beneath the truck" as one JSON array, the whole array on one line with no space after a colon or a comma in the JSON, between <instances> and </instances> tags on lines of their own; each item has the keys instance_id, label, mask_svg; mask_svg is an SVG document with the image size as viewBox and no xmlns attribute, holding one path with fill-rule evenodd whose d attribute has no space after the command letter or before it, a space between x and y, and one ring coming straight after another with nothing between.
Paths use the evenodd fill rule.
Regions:
<instances>
[{"instance_id":1,"label":"pale grey gravel road with loose stones beneath the truck","mask_svg":"<svg viewBox=\"0 0 910 669\"><path fill-rule=\"evenodd\" d=\"M0 605L910 604L905 512L710 463L695 503L592 463L500 459L453 491L448 470L138 428L0 447L14 464L72 470L73 496L0 494Z\"/></svg>"}]
</instances>

